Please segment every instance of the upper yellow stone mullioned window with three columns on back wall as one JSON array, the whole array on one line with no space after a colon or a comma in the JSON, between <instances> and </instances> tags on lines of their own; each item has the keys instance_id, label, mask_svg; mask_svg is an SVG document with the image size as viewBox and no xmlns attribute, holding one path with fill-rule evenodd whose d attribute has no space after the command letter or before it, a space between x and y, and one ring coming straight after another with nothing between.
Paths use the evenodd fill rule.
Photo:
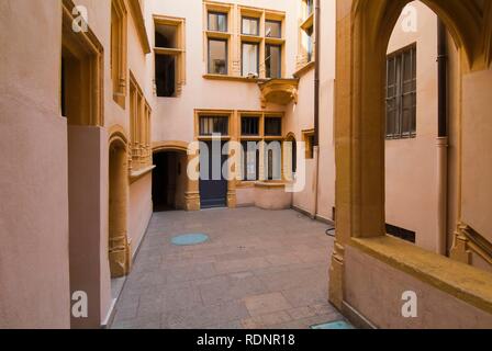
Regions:
<instances>
[{"instance_id":1,"label":"upper yellow stone mullioned window with three columns on back wall","mask_svg":"<svg viewBox=\"0 0 492 351\"><path fill-rule=\"evenodd\" d=\"M203 1L205 79L280 78L284 59L286 13L234 3ZM267 77L267 46L271 46ZM223 78L216 76L225 76ZM245 80L245 79L241 79Z\"/></svg>"}]
</instances>

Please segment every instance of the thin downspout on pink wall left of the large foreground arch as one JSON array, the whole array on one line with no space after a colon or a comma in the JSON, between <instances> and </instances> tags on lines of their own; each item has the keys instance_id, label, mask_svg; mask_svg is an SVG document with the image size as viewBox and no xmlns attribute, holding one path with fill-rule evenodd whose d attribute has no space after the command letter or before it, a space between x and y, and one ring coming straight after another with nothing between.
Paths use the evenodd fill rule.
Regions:
<instances>
[{"instance_id":1,"label":"thin downspout on pink wall left of the large foreground arch","mask_svg":"<svg viewBox=\"0 0 492 351\"><path fill-rule=\"evenodd\" d=\"M313 218L317 217L317 190L320 179L320 50L321 50L321 1L315 0L314 7L314 211Z\"/></svg>"}]
</instances>

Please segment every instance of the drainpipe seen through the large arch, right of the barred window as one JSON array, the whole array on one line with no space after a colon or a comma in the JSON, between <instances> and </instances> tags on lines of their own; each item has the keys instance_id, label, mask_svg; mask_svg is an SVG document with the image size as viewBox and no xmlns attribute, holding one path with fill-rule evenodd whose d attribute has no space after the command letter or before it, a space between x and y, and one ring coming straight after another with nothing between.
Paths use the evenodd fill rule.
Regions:
<instances>
[{"instance_id":1,"label":"drainpipe seen through the large arch, right of the barred window","mask_svg":"<svg viewBox=\"0 0 492 351\"><path fill-rule=\"evenodd\" d=\"M448 49L447 31L441 20L437 23L437 66L438 66L438 238L437 251L447 256L448 250L448 112L447 112L447 87L448 87Z\"/></svg>"}]
</instances>

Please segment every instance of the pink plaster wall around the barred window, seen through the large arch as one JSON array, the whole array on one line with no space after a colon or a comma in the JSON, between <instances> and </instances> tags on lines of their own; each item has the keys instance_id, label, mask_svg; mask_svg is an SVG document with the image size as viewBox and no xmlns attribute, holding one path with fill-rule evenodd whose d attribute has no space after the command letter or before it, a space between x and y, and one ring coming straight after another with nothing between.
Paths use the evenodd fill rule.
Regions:
<instances>
[{"instance_id":1,"label":"pink plaster wall around the barred window, seen through the large arch","mask_svg":"<svg viewBox=\"0 0 492 351\"><path fill-rule=\"evenodd\" d=\"M404 32L401 16L388 53L417 44L416 138L388 140L385 148L387 223L416 233L416 245L437 251L437 16L422 2L417 32Z\"/></svg>"}]
</instances>

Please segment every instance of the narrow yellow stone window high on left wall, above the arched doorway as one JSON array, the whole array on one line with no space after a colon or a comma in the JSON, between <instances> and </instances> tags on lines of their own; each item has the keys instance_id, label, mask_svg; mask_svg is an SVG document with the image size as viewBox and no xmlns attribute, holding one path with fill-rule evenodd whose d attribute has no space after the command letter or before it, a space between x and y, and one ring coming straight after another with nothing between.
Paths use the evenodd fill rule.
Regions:
<instances>
[{"instance_id":1,"label":"narrow yellow stone window high on left wall, above the arched doorway","mask_svg":"<svg viewBox=\"0 0 492 351\"><path fill-rule=\"evenodd\" d=\"M123 0L111 2L111 79L113 100L125 107L126 98L126 8Z\"/></svg>"}]
</instances>

